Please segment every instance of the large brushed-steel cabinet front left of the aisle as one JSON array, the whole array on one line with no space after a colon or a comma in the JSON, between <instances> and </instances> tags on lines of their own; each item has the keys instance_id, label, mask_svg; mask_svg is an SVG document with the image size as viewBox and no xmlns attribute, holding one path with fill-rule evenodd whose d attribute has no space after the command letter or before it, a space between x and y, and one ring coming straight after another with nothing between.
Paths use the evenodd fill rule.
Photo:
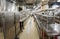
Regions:
<instances>
[{"instance_id":1,"label":"large brushed-steel cabinet front left of the aisle","mask_svg":"<svg viewBox=\"0 0 60 39\"><path fill-rule=\"evenodd\" d=\"M4 39L14 39L16 36L15 27L17 24L17 21L14 19L17 17L18 21L18 15L8 12L8 13L0 13L0 27L3 28L4 33ZM16 21L16 24L14 24L14 21ZM19 26L19 25L18 25ZM19 27L20 28L20 27Z\"/></svg>"}]
</instances>

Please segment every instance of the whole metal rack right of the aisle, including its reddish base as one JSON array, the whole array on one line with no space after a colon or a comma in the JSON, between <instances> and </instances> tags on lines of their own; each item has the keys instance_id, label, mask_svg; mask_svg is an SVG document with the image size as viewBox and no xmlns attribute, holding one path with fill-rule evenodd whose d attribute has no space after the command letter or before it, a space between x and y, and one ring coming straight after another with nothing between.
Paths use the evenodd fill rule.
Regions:
<instances>
[{"instance_id":1,"label":"whole metal rack right of the aisle, including its reddish base","mask_svg":"<svg viewBox=\"0 0 60 39\"><path fill-rule=\"evenodd\" d=\"M39 25L39 36L41 39L57 39L57 35L60 35L60 16L58 16L60 12L56 12L56 10L47 11L34 14L37 24ZM55 12L58 14L55 14ZM50 13L52 15L50 15Z\"/></svg>"}]
</instances>

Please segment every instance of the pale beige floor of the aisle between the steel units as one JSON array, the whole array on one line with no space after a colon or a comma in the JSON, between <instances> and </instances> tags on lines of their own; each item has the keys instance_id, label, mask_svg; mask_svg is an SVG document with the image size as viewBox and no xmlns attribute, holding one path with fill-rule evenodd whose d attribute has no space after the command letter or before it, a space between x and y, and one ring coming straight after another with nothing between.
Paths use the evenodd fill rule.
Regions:
<instances>
[{"instance_id":1,"label":"pale beige floor of the aisle between the steel units","mask_svg":"<svg viewBox=\"0 0 60 39\"><path fill-rule=\"evenodd\" d=\"M28 20L26 20L24 26L24 30L19 35L19 39L39 39L36 23L34 22L33 17L30 17Z\"/></svg>"}]
</instances>

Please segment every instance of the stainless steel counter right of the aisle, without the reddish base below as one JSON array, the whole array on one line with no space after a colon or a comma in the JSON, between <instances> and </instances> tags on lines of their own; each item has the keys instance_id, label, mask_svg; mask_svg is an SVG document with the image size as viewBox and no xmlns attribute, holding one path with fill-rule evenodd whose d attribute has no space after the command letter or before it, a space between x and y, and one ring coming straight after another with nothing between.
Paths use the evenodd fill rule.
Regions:
<instances>
[{"instance_id":1,"label":"stainless steel counter right of the aisle, without the reddish base below","mask_svg":"<svg viewBox=\"0 0 60 39\"><path fill-rule=\"evenodd\" d=\"M60 34L60 20L57 21L54 16L43 16L39 14L35 14L35 18L37 19L37 23L40 28L43 28L47 35L59 35Z\"/></svg>"}]
</instances>

